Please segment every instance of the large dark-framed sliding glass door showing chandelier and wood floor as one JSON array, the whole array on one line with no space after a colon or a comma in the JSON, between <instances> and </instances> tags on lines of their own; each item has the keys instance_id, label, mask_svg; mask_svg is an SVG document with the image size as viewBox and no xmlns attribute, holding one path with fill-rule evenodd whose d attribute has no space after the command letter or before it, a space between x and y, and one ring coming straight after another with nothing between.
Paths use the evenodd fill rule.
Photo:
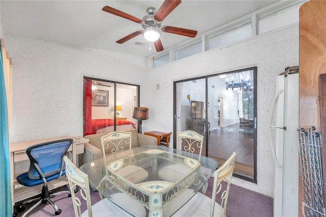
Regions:
<instances>
[{"instance_id":1,"label":"large dark-framed sliding glass door showing chandelier and wood floor","mask_svg":"<svg viewBox=\"0 0 326 217\"><path fill-rule=\"evenodd\" d=\"M174 104L174 134L204 135L202 154L219 165L236 152L235 176L252 182L257 182L256 80L253 67L175 82Z\"/></svg>"}]
</instances>

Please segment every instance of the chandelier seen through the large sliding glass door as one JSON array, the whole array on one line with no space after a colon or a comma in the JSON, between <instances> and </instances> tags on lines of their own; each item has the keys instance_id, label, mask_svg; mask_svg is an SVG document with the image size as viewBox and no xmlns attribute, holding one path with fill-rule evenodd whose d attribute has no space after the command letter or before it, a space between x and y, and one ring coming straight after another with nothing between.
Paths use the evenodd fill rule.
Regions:
<instances>
[{"instance_id":1,"label":"chandelier seen through the large sliding glass door","mask_svg":"<svg viewBox=\"0 0 326 217\"><path fill-rule=\"evenodd\" d=\"M236 74L237 74L237 80L236 80ZM241 76L240 76L241 75ZM226 90L231 88L232 90L240 90L240 91L252 91L253 86L251 82L251 77L247 77L246 79L243 78L242 72L240 73L232 73L231 79L226 79Z\"/></svg>"}]
</instances>

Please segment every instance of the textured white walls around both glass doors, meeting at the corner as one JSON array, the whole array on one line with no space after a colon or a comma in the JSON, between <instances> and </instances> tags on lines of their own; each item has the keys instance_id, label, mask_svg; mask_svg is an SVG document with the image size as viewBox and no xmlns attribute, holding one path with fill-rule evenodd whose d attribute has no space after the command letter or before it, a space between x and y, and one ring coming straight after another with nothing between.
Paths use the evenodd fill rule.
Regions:
<instances>
[{"instance_id":1,"label":"textured white walls around both glass doors, meeting at the corner","mask_svg":"<svg viewBox=\"0 0 326 217\"><path fill-rule=\"evenodd\" d=\"M233 182L273 196L268 116L277 74L298 64L298 38L294 25L148 72L150 62L145 58L7 36L6 48L13 60L11 141L83 134L84 75L141 85L141 105L150 109L143 132L169 132L173 131L175 80L257 66L258 184L236 178Z\"/></svg>"}]
</instances>

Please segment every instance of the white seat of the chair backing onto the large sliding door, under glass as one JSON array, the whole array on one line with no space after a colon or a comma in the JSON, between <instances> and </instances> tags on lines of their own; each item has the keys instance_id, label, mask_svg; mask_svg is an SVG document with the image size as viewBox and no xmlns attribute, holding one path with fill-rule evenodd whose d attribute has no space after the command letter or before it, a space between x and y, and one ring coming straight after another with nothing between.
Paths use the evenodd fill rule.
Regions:
<instances>
[{"instance_id":1,"label":"white seat of the chair backing onto the large sliding door, under glass","mask_svg":"<svg viewBox=\"0 0 326 217\"><path fill-rule=\"evenodd\" d=\"M177 182L192 171L191 168L182 164L173 164L158 170L158 177L163 181Z\"/></svg>"}]
</instances>

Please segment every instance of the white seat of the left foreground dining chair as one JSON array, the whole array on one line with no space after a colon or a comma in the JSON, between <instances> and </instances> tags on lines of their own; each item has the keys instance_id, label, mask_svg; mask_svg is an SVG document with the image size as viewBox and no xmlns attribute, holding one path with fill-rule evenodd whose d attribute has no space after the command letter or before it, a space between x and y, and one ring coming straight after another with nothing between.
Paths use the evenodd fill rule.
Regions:
<instances>
[{"instance_id":1,"label":"white seat of the left foreground dining chair","mask_svg":"<svg viewBox=\"0 0 326 217\"><path fill-rule=\"evenodd\" d=\"M120 203L126 203L128 204L128 207L130 208L126 212L110 200L104 198L103 200L100 200L96 204L92 206L92 212L93 212L93 217L100 217L100 216L146 216L146 209L143 205L138 203L137 201L131 199L127 195L120 195L123 193L117 193L113 195L113 198L116 198L119 200ZM128 199L129 198L129 199ZM88 211L86 210L85 212L82 213L82 217L87 217L88 216Z\"/></svg>"}]
</instances>

